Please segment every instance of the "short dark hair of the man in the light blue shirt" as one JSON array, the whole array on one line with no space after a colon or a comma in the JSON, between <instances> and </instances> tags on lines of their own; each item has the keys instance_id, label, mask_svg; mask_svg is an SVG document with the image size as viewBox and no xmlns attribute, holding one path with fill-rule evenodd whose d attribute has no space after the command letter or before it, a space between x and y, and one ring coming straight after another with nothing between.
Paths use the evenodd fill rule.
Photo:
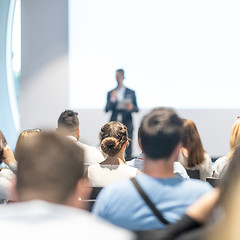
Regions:
<instances>
[{"instance_id":1,"label":"short dark hair of the man in the light blue shirt","mask_svg":"<svg viewBox=\"0 0 240 240\"><path fill-rule=\"evenodd\" d=\"M139 128L146 156L151 159L170 157L181 141L182 126L182 119L172 109L157 108L147 114Z\"/></svg>"}]
</instances>

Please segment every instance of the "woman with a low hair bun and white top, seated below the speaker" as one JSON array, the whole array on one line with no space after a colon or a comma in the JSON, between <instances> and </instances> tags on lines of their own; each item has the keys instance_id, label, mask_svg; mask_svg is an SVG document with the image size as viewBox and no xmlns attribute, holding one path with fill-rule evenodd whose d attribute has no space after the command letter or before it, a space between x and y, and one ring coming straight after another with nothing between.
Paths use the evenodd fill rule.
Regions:
<instances>
[{"instance_id":1,"label":"woman with a low hair bun and white top, seated below the speaker","mask_svg":"<svg viewBox=\"0 0 240 240\"><path fill-rule=\"evenodd\" d=\"M124 153L128 146L127 127L120 122L109 122L101 128L101 149L107 154L105 161L88 167L86 175L93 187L105 187L109 183L135 177L137 168L126 164Z\"/></svg>"}]
</instances>

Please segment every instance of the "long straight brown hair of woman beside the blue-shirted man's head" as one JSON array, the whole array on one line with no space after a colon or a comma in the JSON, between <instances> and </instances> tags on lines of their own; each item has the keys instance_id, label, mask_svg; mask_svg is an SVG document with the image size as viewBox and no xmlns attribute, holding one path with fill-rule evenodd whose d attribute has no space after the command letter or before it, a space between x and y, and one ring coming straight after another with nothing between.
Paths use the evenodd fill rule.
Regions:
<instances>
[{"instance_id":1,"label":"long straight brown hair of woman beside the blue-shirted man's head","mask_svg":"<svg viewBox=\"0 0 240 240\"><path fill-rule=\"evenodd\" d=\"M187 167L196 167L204 161L204 149L196 125L192 120L183 119L182 144L187 149Z\"/></svg>"}]
</instances>

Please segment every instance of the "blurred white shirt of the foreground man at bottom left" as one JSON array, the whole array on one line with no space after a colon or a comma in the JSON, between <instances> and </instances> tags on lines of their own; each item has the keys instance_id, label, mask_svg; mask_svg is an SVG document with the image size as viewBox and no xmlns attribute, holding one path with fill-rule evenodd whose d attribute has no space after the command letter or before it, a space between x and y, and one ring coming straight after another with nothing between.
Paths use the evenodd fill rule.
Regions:
<instances>
[{"instance_id":1,"label":"blurred white shirt of the foreground man at bottom left","mask_svg":"<svg viewBox=\"0 0 240 240\"><path fill-rule=\"evenodd\" d=\"M0 212L1 239L135 239L87 211L42 200L2 205Z\"/></svg>"}]
</instances>

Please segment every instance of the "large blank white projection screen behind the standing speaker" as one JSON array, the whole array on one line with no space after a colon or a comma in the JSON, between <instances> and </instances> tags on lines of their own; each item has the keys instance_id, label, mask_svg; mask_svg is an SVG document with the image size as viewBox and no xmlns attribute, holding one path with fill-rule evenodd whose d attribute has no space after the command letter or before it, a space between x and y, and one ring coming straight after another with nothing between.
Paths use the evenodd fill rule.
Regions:
<instances>
[{"instance_id":1,"label":"large blank white projection screen behind the standing speaker","mask_svg":"<svg viewBox=\"0 0 240 240\"><path fill-rule=\"evenodd\" d=\"M115 70L139 107L239 108L240 1L69 0L70 107L103 109Z\"/></svg>"}]
</instances>

